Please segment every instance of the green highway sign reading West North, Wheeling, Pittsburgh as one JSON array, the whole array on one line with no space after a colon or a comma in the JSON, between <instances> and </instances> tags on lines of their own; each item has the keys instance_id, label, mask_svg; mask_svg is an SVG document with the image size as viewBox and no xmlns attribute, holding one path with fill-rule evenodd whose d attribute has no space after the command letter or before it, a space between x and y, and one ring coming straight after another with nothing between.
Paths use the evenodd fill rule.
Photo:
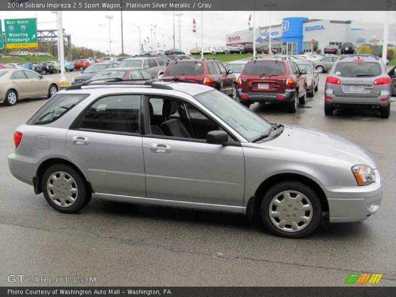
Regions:
<instances>
[{"instance_id":1,"label":"green highway sign reading West North, Wheeling, Pittsburgh","mask_svg":"<svg viewBox=\"0 0 396 297\"><path fill-rule=\"evenodd\" d=\"M37 19L5 19L5 47L7 49L37 48Z\"/></svg>"}]
</instances>

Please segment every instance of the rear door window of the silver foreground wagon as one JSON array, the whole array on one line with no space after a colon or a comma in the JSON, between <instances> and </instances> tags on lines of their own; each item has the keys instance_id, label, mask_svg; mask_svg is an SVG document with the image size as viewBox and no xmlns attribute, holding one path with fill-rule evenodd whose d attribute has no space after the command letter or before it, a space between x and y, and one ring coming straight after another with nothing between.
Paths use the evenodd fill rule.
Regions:
<instances>
[{"instance_id":1,"label":"rear door window of the silver foreground wagon","mask_svg":"<svg viewBox=\"0 0 396 297\"><path fill-rule=\"evenodd\" d=\"M85 110L80 129L115 133L140 132L139 95L114 95L96 100Z\"/></svg>"}]
</instances>

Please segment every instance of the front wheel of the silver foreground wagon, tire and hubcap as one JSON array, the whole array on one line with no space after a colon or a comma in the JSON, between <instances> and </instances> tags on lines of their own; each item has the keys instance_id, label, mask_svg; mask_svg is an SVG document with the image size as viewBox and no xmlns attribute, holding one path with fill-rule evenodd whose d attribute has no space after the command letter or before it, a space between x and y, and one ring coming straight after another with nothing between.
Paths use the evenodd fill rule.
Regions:
<instances>
[{"instance_id":1,"label":"front wheel of the silver foreground wagon, tire and hubcap","mask_svg":"<svg viewBox=\"0 0 396 297\"><path fill-rule=\"evenodd\" d=\"M261 200L261 218L275 235L301 238L319 225L322 205L317 194L297 182L276 184Z\"/></svg>"}]
</instances>

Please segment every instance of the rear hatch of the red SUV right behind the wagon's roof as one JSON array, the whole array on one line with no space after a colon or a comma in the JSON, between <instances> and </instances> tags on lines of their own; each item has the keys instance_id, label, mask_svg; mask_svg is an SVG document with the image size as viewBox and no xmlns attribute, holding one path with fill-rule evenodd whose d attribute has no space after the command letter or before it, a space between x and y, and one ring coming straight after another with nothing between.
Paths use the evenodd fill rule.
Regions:
<instances>
[{"instance_id":1,"label":"rear hatch of the red SUV right behind the wagon's roof","mask_svg":"<svg viewBox=\"0 0 396 297\"><path fill-rule=\"evenodd\" d=\"M202 84L205 78L204 65L198 61L173 62L168 65L162 77L177 77Z\"/></svg>"}]
</instances>

